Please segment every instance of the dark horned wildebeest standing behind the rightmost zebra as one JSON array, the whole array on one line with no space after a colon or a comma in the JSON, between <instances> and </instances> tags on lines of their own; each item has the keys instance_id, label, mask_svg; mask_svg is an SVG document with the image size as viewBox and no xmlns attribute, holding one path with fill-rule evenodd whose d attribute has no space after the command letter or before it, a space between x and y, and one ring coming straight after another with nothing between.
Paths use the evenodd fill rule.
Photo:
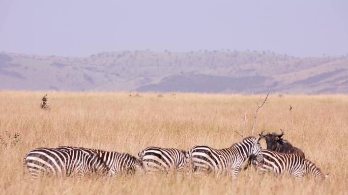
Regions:
<instances>
[{"instance_id":1,"label":"dark horned wildebeest standing behind the rightmost zebra","mask_svg":"<svg viewBox=\"0 0 348 195\"><path fill-rule=\"evenodd\" d=\"M260 134L260 139L266 139L267 149L278 151L282 153L295 153L299 155L302 158L305 158L305 155L303 151L297 147L294 147L290 142L283 139L282 136L284 135L283 130L280 130L281 134L277 133L267 133L264 135L264 131L262 131Z\"/></svg>"}]
</instances>

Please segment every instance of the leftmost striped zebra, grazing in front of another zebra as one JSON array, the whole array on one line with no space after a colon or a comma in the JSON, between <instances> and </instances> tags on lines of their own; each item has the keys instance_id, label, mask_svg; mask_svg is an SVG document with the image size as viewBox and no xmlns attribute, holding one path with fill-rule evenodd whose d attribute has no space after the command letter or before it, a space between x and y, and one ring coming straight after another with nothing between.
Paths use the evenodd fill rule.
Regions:
<instances>
[{"instance_id":1,"label":"leftmost striped zebra, grazing in front of another zebra","mask_svg":"<svg viewBox=\"0 0 348 195\"><path fill-rule=\"evenodd\" d=\"M109 171L97 155L81 149L36 148L25 155L23 166L28 168L32 179L44 174L62 177L77 175L80 181L86 174L105 174Z\"/></svg>"}]
</instances>

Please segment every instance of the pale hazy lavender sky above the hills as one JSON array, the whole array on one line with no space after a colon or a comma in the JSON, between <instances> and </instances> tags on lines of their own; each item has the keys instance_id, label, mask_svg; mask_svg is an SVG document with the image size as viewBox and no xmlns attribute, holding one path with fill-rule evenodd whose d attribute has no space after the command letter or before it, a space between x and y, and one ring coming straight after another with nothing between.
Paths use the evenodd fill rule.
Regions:
<instances>
[{"instance_id":1,"label":"pale hazy lavender sky above the hills","mask_svg":"<svg viewBox=\"0 0 348 195\"><path fill-rule=\"evenodd\" d=\"M348 1L0 0L0 51L271 50L348 53Z\"/></svg>"}]
</instances>

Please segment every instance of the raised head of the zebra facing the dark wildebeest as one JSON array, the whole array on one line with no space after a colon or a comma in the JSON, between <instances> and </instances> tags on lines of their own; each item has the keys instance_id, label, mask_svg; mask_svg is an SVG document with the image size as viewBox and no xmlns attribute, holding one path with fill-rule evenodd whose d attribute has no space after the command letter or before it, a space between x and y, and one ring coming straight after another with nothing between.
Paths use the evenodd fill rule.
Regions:
<instances>
[{"instance_id":1,"label":"raised head of the zebra facing the dark wildebeest","mask_svg":"<svg viewBox=\"0 0 348 195\"><path fill-rule=\"evenodd\" d=\"M242 143L248 147L248 157L256 157L255 164L263 164L264 158L262 155L262 147L261 144L258 143L260 138L255 137L247 137L244 138Z\"/></svg>"}]
</instances>

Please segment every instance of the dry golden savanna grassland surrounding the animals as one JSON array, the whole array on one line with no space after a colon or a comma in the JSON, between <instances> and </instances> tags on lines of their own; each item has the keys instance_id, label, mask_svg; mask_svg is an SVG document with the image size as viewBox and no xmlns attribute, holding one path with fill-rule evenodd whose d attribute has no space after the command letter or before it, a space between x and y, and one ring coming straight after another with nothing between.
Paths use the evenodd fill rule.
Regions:
<instances>
[{"instance_id":1,"label":"dry golden savanna grassland surrounding the animals","mask_svg":"<svg viewBox=\"0 0 348 195\"><path fill-rule=\"evenodd\" d=\"M258 175L242 171L202 177L135 174L104 181L95 177L43 178L32 182L22 166L36 147L73 145L135 156L144 147L196 144L215 148L250 135L258 95L49 92L50 110L40 109L45 92L0 92L0 194L347 194L348 96L270 95L260 108L256 133L280 132L330 177L326 181ZM263 96L264 97L264 96ZM293 107L289 111L289 105ZM261 141L265 148L265 141Z\"/></svg>"}]
</instances>

